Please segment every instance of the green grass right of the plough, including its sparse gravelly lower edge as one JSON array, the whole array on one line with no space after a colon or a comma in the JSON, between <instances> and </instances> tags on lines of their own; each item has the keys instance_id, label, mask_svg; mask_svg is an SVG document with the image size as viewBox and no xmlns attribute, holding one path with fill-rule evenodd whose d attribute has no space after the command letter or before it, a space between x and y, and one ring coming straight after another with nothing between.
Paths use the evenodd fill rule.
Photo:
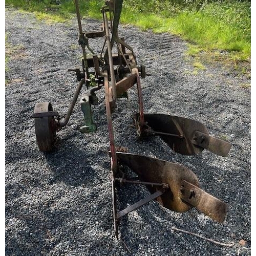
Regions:
<instances>
[{"instance_id":1,"label":"green grass right of the plough, including its sparse gravelly lower edge","mask_svg":"<svg viewBox=\"0 0 256 256\"><path fill-rule=\"evenodd\" d=\"M239 74L250 76L250 3L208 2L199 7L169 7L169 11L150 13L142 6L133 11L126 7L121 22L155 33L176 34L188 42L187 55L196 57L196 62L221 62ZM195 68L196 73L198 69L201 68Z\"/></svg>"}]
</instances>

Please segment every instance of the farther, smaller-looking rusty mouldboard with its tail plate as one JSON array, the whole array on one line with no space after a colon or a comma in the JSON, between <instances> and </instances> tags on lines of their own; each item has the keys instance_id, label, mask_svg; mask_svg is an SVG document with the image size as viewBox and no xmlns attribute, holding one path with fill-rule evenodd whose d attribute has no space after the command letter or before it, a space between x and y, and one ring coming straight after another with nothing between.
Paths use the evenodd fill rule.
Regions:
<instances>
[{"instance_id":1,"label":"farther, smaller-looking rusty mouldboard with its tail plate","mask_svg":"<svg viewBox=\"0 0 256 256\"><path fill-rule=\"evenodd\" d=\"M206 126L199 121L165 114L144 114L146 125L143 126L138 124L138 116L135 115L135 122L141 126L142 137L158 134L175 152L196 155L206 148L220 156L228 155L231 144L209 136Z\"/></svg>"}]
</instances>

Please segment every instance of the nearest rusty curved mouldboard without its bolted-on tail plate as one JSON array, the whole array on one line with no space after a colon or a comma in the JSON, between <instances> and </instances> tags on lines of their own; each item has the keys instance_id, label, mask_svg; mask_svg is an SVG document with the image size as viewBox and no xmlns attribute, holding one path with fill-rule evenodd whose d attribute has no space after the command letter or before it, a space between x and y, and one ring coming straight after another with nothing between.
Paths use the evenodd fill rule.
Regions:
<instances>
[{"instance_id":1,"label":"nearest rusty curved mouldboard without its bolted-on tail plate","mask_svg":"<svg viewBox=\"0 0 256 256\"><path fill-rule=\"evenodd\" d=\"M120 152L116 154L120 164L130 167L141 181L168 184L169 189L157 199L164 207L179 212L191 208L180 198L180 187L183 180L199 186L197 176L190 169L157 158ZM147 186L147 188L151 193L155 193L157 189L152 186Z\"/></svg>"}]
</instances>

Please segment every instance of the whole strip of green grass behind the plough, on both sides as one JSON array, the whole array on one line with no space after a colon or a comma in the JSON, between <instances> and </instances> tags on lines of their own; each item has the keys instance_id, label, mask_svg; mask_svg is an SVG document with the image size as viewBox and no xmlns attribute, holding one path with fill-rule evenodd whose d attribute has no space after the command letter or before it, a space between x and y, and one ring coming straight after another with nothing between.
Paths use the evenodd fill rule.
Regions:
<instances>
[{"instance_id":1,"label":"whole strip of green grass behind the plough, on both sides","mask_svg":"<svg viewBox=\"0 0 256 256\"><path fill-rule=\"evenodd\" d=\"M75 14L72 0L6 0L7 6L33 11L37 17L56 22ZM102 0L79 1L81 15L101 18ZM155 33L179 35L190 44L188 55L201 52L226 51L228 61L250 61L250 2L248 1L185 1L185 0L124 0L123 24L136 25ZM217 54L218 55L218 54ZM215 59L218 59L215 57Z\"/></svg>"}]
</instances>

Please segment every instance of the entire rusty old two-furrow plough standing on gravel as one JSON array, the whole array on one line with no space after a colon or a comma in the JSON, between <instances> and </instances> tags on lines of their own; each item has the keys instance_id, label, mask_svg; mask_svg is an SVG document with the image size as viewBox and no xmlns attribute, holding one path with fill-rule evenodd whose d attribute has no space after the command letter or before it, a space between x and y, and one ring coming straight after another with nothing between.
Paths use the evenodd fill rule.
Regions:
<instances>
[{"instance_id":1,"label":"entire rusty old two-furrow plough standing on gravel","mask_svg":"<svg viewBox=\"0 0 256 256\"><path fill-rule=\"evenodd\" d=\"M82 30L78 0L74 0L74 2L79 29L78 43L82 49L83 59L81 71L79 68L68 71L75 72L79 83L63 120L58 112L53 111L50 102L36 103L33 118L39 150L44 152L53 150L56 132L69 122L83 86L86 86L88 93L84 94L84 98L82 98L86 104L82 102L84 129L81 131L95 131L96 125L92 121L91 105L98 105L96 91L104 87L116 237L118 238L120 218L152 200L157 200L164 207L179 212L196 207L212 219L223 222L227 205L203 191L192 170L157 158L117 152L112 111L117 104L117 99L125 97L127 90L136 84L138 113L134 115L134 121L137 133L141 138L160 136L175 152L183 155L200 154L207 149L215 154L227 156L230 143L210 136L206 126L196 120L164 114L145 114L140 82L140 78L146 76L145 67L137 65L133 48L125 42L123 37L119 38L118 35L123 0L106 1L101 9L103 24L99 31L91 32ZM99 51L100 54L94 54L89 46L89 39L98 37L104 37L104 42ZM116 44L116 48L113 47L114 44ZM87 55L86 47L92 53L91 56ZM113 49L117 49L117 53L113 53ZM91 89L89 89L90 86ZM130 167L138 177L136 179L127 177L123 171L125 169L123 165ZM144 185L151 195L118 211L117 184Z\"/></svg>"}]
</instances>

